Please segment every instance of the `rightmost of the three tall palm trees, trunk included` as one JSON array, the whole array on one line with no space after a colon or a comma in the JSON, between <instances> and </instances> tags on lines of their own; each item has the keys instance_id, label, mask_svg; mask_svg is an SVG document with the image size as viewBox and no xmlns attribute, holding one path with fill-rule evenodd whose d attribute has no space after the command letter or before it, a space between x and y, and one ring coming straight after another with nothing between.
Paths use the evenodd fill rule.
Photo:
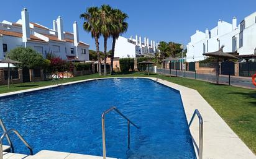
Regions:
<instances>
[{"instance_id":1,"label":"rightmost of the three tall palm trees, trunk included","mask_svg":"<svg viewBox=\"0 0 256 159\"><path fill-rule=\"evenodd\" d=\"M128 15L122 12L119 9L112 10L112 21L114 27L111 30L112 36L112 50L111 50L111 74L113 71L113 61L114 61L114 52L115 52L115 45L116 40L122 33L125 33L128 28L128 23L126 22Z\"/></svg>"}]
</instances>

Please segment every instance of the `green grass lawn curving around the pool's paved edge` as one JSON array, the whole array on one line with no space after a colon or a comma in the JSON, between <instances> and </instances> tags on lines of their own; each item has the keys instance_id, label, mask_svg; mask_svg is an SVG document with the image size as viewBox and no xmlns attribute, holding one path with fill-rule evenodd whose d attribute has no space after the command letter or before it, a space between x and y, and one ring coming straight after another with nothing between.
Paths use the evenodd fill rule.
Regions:
<instances>
[{"instance_id":1,"label":"green grass lawn curving around the pool's paved edge","mask_svg":"<svg viewBox=\"0 0 256 159\"><path fill-rule=\"evenodd\" d=\"M145 76L140 73L117 74L99 76L97 74L75 77L73 79L57 80L54 84L71 82L75 80L92 79L98 77L129 77ZM160 77L175 84L198 90L203 98L213 106L214 110L227 122L231 129L239 135L245 144L256 154L256 90L232 87L229 85L216 85L193 79L181 77L163 77L151 74L150 77ZM8 90L6 85L0 86L0 93L12 92L28 88L52 85L52 81L31 82L15 84Z\"/></svg>"}]
</instances>

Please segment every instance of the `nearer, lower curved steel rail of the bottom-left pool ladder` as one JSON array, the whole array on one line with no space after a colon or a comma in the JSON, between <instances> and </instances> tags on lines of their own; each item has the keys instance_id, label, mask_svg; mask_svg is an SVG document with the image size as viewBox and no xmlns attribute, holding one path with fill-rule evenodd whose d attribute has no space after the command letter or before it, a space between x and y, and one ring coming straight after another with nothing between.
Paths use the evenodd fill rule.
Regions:
<instances>
[{"instance_id":1,"label":"nearer, lower curved steel rail of the bottom-left pool ladder","mask_svg":"<svg viewBox=\"0 0 256 159\"><path fill-rule=\"evenodd\" d=\"M1 136L1 138L0 138L0 159L3 159L3 158L4 158L4 157L3 157L3 154L2 154L2 140L3 140L4 137L5 137L6 135L8 135L10 132L14 132L14 133L17 135L17 137L19 137L19 139L21 139L21 141L25 144L25 146L26 146L27 148L29 148L30 155L33 155L33 150L32 150L32 148L30 147L29 144L27 144L27 142L26 142L25 139L21 136L21 134L19 134L19 132L16 131L16 129L9 129L9 130L7 130L6 132L4 132L4 134L2 134L2 136Z\"/></svg>"}]
</instances>

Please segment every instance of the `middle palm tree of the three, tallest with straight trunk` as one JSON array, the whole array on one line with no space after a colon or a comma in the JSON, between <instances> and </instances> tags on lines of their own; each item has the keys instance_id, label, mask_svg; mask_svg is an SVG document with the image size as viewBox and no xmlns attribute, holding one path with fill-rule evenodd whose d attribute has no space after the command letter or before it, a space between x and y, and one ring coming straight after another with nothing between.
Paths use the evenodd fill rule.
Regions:
<instances>
[{"instance_id":1,"label":"middle palm tree of the three, tallest with straight trunk","mask_svg":"<svg viewBox=\"0 0 256 159\"><path fill-rule=\"evenodd\" d=\"M112 25L112 8L109 5L103 4L99 9L99 26L100 32L104 37L104 75L107 75L107 38L111 35L111 29L114 28Z\"/></svg>"}]
</instances>

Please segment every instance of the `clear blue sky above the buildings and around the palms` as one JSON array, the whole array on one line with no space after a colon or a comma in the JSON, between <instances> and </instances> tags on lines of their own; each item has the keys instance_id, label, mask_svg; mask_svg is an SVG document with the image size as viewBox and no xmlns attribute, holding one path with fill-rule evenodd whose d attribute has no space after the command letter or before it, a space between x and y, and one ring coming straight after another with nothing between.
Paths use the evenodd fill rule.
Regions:
<instances>
[{"instance_id":1,"label":"clear blue sky above the buildings and around the palms","mask_svg":"<svg viewBox=\"0 0 256 159\"><path fill-rule=\"evenodd\" d=\"M67 32L73 32L73 22L78 22L80 40L88 43L90 49L95 49L94 39L90 33L83 30L83 20L80 14L87 7L109 4L121 9L129 15L129 28L122 36L140 35L142 40L148 37L155 41L174 41L187 45L190 36L196 30L205 31L213 28L219 19L232 23L232 17L237 17L240 23L249 14L256 11L255 0L179 0L179 1L96 1L96 0L1 0L0 21L16 22L21 19L21 10L29 11L30 22L37 22L52 28L52 20L58 15L63 18L63 27ZM111 49L109 38L107 50ZM100 49L103 50L103 38L100 39Z\"/></svg>"}]
</instances>

